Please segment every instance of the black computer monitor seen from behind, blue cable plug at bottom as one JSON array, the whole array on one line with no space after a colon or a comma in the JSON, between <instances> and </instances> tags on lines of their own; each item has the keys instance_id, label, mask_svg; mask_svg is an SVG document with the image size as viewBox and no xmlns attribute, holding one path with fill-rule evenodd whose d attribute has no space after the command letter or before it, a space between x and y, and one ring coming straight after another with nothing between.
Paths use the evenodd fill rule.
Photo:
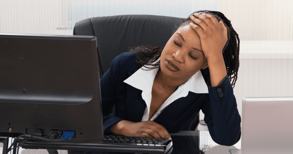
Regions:
<instances>
[{"instance_id":1,"label":"black computer monitor seen from behind, blue cable plug at bottom","mask_svg":"<svg viewBox=\"0 0 293 154\"><path fill-rule=\"evenodd\" d=\"M53 144L103 141L98 72L94 36L0 33L0 138L67 131L74 137Z\"/></svg>"}]
</instances>

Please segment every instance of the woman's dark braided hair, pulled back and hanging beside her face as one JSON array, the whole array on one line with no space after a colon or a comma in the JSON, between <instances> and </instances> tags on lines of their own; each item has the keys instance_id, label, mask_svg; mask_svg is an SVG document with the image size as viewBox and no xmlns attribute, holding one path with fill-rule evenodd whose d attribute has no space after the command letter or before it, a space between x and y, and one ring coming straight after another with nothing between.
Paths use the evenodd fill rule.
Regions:
<instances>
[{"instance_id":1,"label":"woman's dark braided hair, pulled back and hanging beside her face","mask_svg":"<svg viewBox=\"0 0 293 154\"><path fill-rule=\"evenodd\" d=\"M224 62L227 70L227 75L229 76L231 85L235 86L235 82L237 80L238 68L239 68L239 45L240 40L239 36L231 25L231 21L228 20L223 13L218 11L196 11L194 13L208 13L217 18L217 20L223 21L224 25L227 28L227 42L222 50ZM192 13L193 14L193 13ZM185 18L173 31L175 33L177 29L181 26L185 26L189 23L193 22L190 17ZM194 22L193 22L194 23ZM152 65L154 67L147 67L149 69L160 67L160 61L155 64L151 64L154 61L158 60L161 56L163 48L150 47L150 46L139 46L137 48L130 48L130 51L136 52L136 63L143 67L144 65ZM142 52L141 52L142 51ZM144 66L145 67L145 66Z\"/></svg>"}]
</instances>

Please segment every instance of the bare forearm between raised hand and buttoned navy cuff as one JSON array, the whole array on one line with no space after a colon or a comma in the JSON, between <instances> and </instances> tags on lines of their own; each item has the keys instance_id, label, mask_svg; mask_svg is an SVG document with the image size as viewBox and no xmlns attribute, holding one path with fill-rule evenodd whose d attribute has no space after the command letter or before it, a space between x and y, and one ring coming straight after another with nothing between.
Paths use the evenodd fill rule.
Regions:
<instances>
[{"instance_id":1,"label":"bare forearm between raised hand and buttoned navy cuff","mask_svg":"<svg viewBox=\"0 0 293 154\"><path fill-rule=\"evenodd\" d=\"M211 78L211 86L218 86L227 75L227 70L223 55L215 55L207 58L209 73Z\"/></svg>"}]
</instances>

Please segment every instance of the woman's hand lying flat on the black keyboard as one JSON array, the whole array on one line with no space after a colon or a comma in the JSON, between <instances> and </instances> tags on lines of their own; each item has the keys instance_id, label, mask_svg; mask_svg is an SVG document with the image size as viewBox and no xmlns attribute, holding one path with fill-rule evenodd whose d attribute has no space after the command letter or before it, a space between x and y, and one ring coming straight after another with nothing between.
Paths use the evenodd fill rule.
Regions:
<instances>
[{"instance_id":1,"label":"woman's hand lying flat on the black keyboard","mask_svg":"<svg viewBox=\"0 0 293 154\"><path fill-rule=\"evenodd\" d=\"M110 128L110 131L124 136L169 138L172 140L166 128L154 121L141 121L135 123L122 120L115 123Z\"/></svg>"}]
</instances>

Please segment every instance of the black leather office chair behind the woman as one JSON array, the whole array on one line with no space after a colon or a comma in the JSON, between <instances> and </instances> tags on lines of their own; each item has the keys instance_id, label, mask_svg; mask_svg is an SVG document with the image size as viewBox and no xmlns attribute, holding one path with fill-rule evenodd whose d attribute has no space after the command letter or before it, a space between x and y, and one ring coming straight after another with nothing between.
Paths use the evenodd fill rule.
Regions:
<instances>
[{"instance_id":1,"label":"black leather office chair behind the woman","mask_svg":"<svg viewBox=\"0 0 293 154\"><path fill-rule=\"evenodd\" d=\"M96 36L100 77L112 60L129 47L164 47L184 18L155 15L119 15L84 19L75 24L73 35ZM197 116L190 130L199 123Z\"/></svg>"}]
</instances>

